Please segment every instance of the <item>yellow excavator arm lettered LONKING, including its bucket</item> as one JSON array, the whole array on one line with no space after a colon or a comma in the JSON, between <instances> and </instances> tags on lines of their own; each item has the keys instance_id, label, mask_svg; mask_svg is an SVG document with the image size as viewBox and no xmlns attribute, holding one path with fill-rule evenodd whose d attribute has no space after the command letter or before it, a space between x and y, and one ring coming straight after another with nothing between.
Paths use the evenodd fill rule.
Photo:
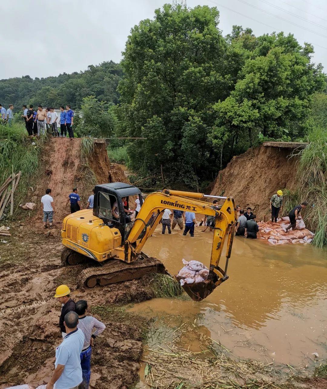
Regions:
<instances>
[{"instance_id":1,"label":"yellow excavator arm lettered LONKING, including its bucket","mask_svg":"<svg viewBox=\"0 0 327 389\"><path fill-rule=\"evenodd\" d=\"M219 198L223 200L223 204L215 205L200 200L206 197ZM236 225L236 205L234 199L232 197L207 196L201 193L172 191L168 189L151 193L144 200L141 210L135 219L134 226L125 240L124 247L121 248L125 251L125 261L132 262L137 259L147 238L152 235L166 208L215 217L209 276L204 282L185 284L183 286L186 293L193 300L200 301L229 278L227 275L227 266L232 250ZM147 225L153 214L155 214L154 220L150 225ZM142 235L141 238L140 235ZM226 261L225 266L222 268L219 266L219 263L226 239Z\"/></svg>"}]
</instances>

